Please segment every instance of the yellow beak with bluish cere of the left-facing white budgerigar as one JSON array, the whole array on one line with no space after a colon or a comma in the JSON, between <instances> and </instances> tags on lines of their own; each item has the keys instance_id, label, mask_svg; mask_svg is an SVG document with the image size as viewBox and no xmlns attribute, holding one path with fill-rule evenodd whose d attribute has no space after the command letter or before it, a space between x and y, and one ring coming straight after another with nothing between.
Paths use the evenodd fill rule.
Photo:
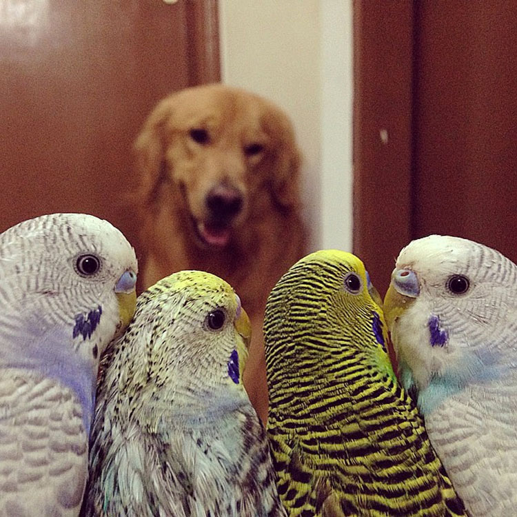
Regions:
<instances>
[{"instance_id":1,"label":"yellow beak with bluish cere of the left-facing white budgerigar","mask_svg":"<svg viewBox=\"0 0 517 517\"><path fill-rule=\"evenodd\" d=\"M384 297L384 317L389 329L392 328L398 316L414 303L418 294L420 294L420 284L416 273L412 270L395 269Z\"/></svg>"}]
</instances>

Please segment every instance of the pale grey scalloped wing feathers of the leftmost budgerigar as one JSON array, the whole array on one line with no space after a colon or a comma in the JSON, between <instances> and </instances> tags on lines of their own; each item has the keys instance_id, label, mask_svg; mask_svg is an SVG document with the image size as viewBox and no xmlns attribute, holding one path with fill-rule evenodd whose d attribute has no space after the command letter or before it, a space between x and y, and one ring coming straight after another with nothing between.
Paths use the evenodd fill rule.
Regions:
<instances>
[{"instance_id":1,"label":"pale grey scalloped wing feathers of the leftmost budgerigar","mask_svg":"<svg viewBox=\"0 0 517 517\"><path fill-rule=\"evenodd\" d=\"M58 503L79 505L88 439L70 389L23 372L1 377L0 437L0 507L13 497L32 515Z\"/></svg>"}]
</instances>

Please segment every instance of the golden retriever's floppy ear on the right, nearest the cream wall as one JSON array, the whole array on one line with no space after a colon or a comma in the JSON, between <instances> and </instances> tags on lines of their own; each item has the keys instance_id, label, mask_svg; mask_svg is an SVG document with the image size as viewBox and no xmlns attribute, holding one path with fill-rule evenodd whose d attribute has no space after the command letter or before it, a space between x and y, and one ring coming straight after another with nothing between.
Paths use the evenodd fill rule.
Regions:
<instances>
[{"instance_id":1,"label":"golden retriever's floppy ear on the right, nearest the cream wall","mask_svg":"<svg viewBox=\"0 0 517 517\"><path fill-rule=\"evenodd\" d=\"M270 124L270 136L276 142L271 171L274 201L283 209L294 210L300 204L300 168L302 156L291 121L277 112Z\"/></svg>"}]
</instances>

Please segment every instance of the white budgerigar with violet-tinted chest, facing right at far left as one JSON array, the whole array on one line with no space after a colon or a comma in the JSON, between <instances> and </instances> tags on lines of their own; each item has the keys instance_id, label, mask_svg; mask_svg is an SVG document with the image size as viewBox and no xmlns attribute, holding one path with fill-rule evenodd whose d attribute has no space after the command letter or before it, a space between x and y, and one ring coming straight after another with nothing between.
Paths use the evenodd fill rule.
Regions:
<instances>
[{"instance_id":1,"label":"white budgerigar with violet-tinted chest, facing right at far left","mask_svg":"<svg viewBox=\"0 0 517 517\"><path fill-rule=\"evenodd\" d=\"M136 305L108 221L51 214L0 234L0 516L79 515L99 358Z\"/></svg>"}]
</instances>

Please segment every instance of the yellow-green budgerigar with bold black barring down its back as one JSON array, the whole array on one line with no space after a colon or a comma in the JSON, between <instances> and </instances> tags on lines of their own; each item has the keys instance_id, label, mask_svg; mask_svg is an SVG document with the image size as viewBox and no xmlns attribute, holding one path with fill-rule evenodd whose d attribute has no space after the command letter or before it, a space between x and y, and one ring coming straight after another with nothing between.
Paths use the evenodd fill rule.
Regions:
<instances>
[{"instance_id":1,"label":"yellow-green budgerigar with bold black barring down its back","mask_svg":"<svg viewBox=\"0 0 517 517\"><path fill-rule=\"evenodd\" d=\"M265 310L270 438L291 517L465 515L385 351L363 263L315 252Z\"/></svg>"}]
</instances>

